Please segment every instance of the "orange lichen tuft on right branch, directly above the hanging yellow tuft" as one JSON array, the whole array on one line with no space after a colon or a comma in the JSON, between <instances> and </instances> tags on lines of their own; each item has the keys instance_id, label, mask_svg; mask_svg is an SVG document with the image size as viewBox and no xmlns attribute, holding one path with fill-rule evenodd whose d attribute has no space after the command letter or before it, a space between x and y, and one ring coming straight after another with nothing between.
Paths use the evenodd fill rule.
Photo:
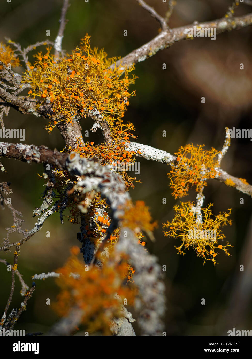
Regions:
<instances>
[{"instance_id":1,"label":"orange lichen tuft on right branch, directly above the hanging yellow tuft","mask_svg":"<svg viewBox=\"0 0 252 359\"><path fill-rule=\"evenodd\" d=\"M203 150L204 145L193 146L193 144L179 148L177 161L171 164L168 173L170 187L173 196L177 199L187 195L190 187L195 186L199 192L202 186L206 186L206 180L214 178L218 174L217 155L220 151L214 148Z\"/></svg>"}]
</instances>

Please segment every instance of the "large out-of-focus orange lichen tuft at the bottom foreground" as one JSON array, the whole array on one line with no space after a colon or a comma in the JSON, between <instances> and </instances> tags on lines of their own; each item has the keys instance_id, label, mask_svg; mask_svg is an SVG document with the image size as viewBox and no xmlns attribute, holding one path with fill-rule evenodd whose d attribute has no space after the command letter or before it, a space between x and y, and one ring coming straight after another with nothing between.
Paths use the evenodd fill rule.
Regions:
<instances>
[{"instance_id":1,"label":"large out-of-focus orange lichen tuft at the bottom foreground","mask_svg":"<svg viewBox=\"0 0 252 359\"><path fill-rule=\"evenodd\" d=\"M88 332L111 335L112 319L123 315L122 299L127 298L128 304L133 304L136 296L136 290L125 284L129 265L125 258L111 265L113 253L110 253L110 260L102 267L87 268L77 259L75 250L71 252L66 264L57 270L61 273L56 279L61 292L54 309L60 316L67 316L73 307L82 309L82 323Z\"/></svg>"}]
</instances>

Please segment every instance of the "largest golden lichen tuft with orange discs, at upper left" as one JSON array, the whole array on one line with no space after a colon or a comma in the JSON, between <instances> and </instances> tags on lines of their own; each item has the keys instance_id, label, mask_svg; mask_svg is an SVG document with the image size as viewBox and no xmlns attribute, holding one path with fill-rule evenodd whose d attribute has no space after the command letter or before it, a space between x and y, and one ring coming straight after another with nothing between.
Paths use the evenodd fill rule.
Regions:
<instances>
[{"instance_id":1,"label":"largest golden lichen tuft with orange discs, at upper left","mask_svg":"<svg viewBox=\"0 0 252 359\"><path fill-rule=\"evenodd\" d=\"M111 70L118 59L108 59L103 49L91 49L88 35L67 58L55 59L50 48L46 50L45 56L42 52L35 55L37 60L24 74L23 83L30 86L31 96L41 98L40 104L52 103L52 120L60 115L71 122L76 115L89 116L90 111L107 121L124 116L128 98L135 95L128 92L136 78L128 75L133 66L124 70L114 66Z\"/></svg>"}]
</instances>

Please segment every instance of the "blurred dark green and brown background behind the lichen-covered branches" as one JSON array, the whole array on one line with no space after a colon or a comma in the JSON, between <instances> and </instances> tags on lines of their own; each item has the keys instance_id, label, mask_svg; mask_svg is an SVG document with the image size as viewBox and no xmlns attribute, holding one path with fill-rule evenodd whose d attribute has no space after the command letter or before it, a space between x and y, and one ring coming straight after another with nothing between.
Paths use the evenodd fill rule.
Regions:
<instances>
[{"instance_id":1,"label":"blurred dark green and brown background behind the lichen-covered branches","mask_svg":"<svg viewBox=\"0 0 252 359\"><path fill-rule=\"evenodd\" d=\"M158 33L159 23L142 9L136 0L70 0L67 13L69 22L65 29L63 48L71 51L79 40L90 34L91 46L104 47L109 56L124 56L143 45ZM191 24L194 20L214 20L224 16L232 1L178 0L170 19L170 27ZM164 15L168 4L161 0L148 0L156 11ZM54 41L59 27L62 1L60 0L15 0L1 1L0 39L10 37L22 46L50 39ZM243 15L251 7L240 4L235 15ZM46 30L50 37L46 37ZM123 36L124 29L128 36ZM251 128L251 28L225 32L210 38L197 38L176 43L171 48L157 53L136 65L138 76L136 97L124 120L136 127L137 141L174 153L187 143L205 144L206 149L214 146L221 149L225 138L225 126ZM30 57L32 60L32 56ZM162 70L162 64L166 70ZM240 70L240 63L244 70ZM201 103L201 97L206 103ZM47 121L34 116L23 116L11 109L4 118L6 128L25 128L26 144L46 145L51 149L63 149L64 142L55 129L47 134ZM90 130L92 121L82 119L83 130ZM162 137L166 130L167 136ZM7 139L8 140L8 139ZM101 141L100 133L90 132L89 140ZM12 142L13 140L10 140ZM221 167L228 173L246 178L252 183L250 139L232 139L230 149ZM22 211L24 228L30 230L35 218L33 210L45 187L38 181L37 173L43 166L1 159L6 173L0 173L0 182L9 181L13 190L12 204ZM167 335L227 335L228 330L252 330L252 220L251 198L218 181L208 182L205 189L205 204L214 203L213 212L232 208L232 227L224 227L226 239L234 246L232 256L221 254L214 266L208 261L203 266L201 258L191 250L185 256L177 255L174 246L179 241L165 238L162 223L173 218L173 206L167 173L169 167L145 159L141 163L136 188L130 190L133 200L144 200L150 207L152 217L159 222L155 230L156 242L146 240L146 248L166 265L167 312L165 331ZM167 203L162 204L166 197ZM244 204L240 204L240 198ZM196 199L194 191L183 200ZM78 225L67 220L60 224L57 214L46 220L43 229L21 247L18 269L24 281L31 286L35 273L50 272L63 265L69 256L69 248L79 245L76 239ZM5 238L6 227L13 224L8 209L0 212L0 238ZM50 238L46 238L46 231ZM11 241L20 236L13 234ZM80 255L81 256L81 255ZM1 253L1 258L12 263L13 250ZM244 271L240 271L244 265ZM10 291L10 272L0 264L1 296L0 308L4 311ZM37 288L29 300L27 311L22 314L16 329L26 332L42 331L57 320L57 316L46 305L59 292L54 279L36 281ZM22 297L16 279L15 294L10 310L19 308ZM205 305L201 299L205 298ZM81 334L81 333L79 333Z\"/></svg>"}]
</instances>

